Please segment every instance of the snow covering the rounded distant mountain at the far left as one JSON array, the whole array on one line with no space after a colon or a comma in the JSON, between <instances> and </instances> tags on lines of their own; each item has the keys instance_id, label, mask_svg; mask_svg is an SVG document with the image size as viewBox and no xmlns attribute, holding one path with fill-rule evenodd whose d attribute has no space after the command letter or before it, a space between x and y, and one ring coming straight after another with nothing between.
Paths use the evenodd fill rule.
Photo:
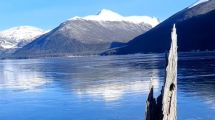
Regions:
<instances>
[{"instance_id":1,"label":"snow covering the rounded distant mountain at the far left","mask_svg":"<svg viewBox=\"0 0 215 120\"><path fill-rule=\"evenodd\" d=\"M0 31L0 46L4 49L19 48L36 39L45 31L31 26L20 26Z\"/></svg>"}]
</instances>

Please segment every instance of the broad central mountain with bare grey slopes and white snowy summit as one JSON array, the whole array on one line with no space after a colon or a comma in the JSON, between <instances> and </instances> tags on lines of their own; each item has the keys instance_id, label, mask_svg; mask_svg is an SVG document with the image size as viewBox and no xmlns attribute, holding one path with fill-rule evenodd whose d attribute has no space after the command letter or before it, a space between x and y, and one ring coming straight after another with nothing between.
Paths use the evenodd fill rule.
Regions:
<instances>
[{"instance_id":1,"label":"broad central mountain with bare grey slopes and white snowy summit","mask_svg":"<svg viewBox=\"0 0 215 120\"><path fill-rule=\"evenodd\" d=\"M91 55L123 46L158 24L158 19L123 17L110 10L73 17L15 52L18 57Z\"/></svg>"}]
</instances>

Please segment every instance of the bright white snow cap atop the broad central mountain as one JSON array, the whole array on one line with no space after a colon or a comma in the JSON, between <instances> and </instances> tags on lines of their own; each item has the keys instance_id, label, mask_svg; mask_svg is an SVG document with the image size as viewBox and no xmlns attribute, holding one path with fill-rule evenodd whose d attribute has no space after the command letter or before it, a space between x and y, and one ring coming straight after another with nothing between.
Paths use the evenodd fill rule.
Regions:
<instances>
[{"instance_id":1,"label":"bright white snow cap atop the broad central mountain","mask_svg":"<svg viewBox=\"0 0 215 120\"><path fill-rule=\"evenodd\" d=\"M101 10L97 15L90 15L86 17L73 17L69 20L92 20L92 21L125 21L125 22L131 22L135 24L140 23L146 23L151 25L152 27L155 27L159 24L159 20L155 17L149 17L149 16L121 16L118 13L115 13L111 10L103 9Z\"/></svg>"}]
</instances>

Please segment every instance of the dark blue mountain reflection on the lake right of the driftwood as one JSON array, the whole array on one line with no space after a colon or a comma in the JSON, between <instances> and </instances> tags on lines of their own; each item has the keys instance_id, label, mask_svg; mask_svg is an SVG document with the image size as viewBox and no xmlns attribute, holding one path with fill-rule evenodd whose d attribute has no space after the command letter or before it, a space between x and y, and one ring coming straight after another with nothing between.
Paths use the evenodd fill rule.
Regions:
<instances>
[{"instance_id":1,"label":"dark blue mountain reflection on the lake right of the driftwood","mask_svg":"<svg viewBox=\"0 0 215 120\"><path fill-rule=\"evenodd\" d=\"M197 99L210 109L215 109L214 64L214 55L197 56L192 59L182 57L178 75L181 94L186 95L188 98Z\"/></svg>"}]
</instances>

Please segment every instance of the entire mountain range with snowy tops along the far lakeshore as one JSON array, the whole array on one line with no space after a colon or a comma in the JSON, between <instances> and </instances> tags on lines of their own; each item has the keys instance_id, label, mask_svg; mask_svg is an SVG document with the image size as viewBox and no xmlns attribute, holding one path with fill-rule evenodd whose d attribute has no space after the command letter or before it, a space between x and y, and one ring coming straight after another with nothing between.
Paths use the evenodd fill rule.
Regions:
<instances>
[{"instance_id":1,"label":"entire mountain range with snowy tops along the far lakeshore","mask_svg":"<svg viewBox=\"0 0 215 120\"><path fill-rule=\"evenodd\" d=\"M213 51L214 20L215 0L199 0L161 23L155 17L122 16L103 9L70 18L49 32L29 26L2 31L0 57L163 53L169 50L173 24L180 52Z\"/></svg>"}]
</instances>

